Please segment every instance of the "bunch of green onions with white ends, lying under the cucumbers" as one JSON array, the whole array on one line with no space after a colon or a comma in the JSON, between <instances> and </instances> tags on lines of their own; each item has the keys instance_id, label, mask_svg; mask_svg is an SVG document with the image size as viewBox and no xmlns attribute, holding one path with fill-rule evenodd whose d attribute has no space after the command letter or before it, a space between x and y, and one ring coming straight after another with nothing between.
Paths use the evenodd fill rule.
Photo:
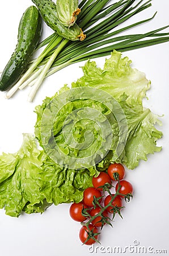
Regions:
<instances>
[{"instance_id":1,"label":"bunch of green onions with white ends, lying under the cucumbers","mask_svg":"<svg viewBox=\"0 0 169 256\"><path fill-rule=\"evenodd\" d=\"M54 32L37 46L45 47L21 79L6 94L10 98L18 89L31 86L28 101L32 101L45 77L52 75L70 64L96 57L107 56L116 49L120 52L153 46L169 41L169 33L160 31L168 26L157 28L145 34L119 35L130 28L149 22L155 14L145 20L117 29L119 25L132 16L141 13L151 6L151 0L120 0L108 4L109 0L82 0L79 3L81 13L77 24L83 28L86 39L82 42L62 38Z\"/></svg>"}]
</instances>

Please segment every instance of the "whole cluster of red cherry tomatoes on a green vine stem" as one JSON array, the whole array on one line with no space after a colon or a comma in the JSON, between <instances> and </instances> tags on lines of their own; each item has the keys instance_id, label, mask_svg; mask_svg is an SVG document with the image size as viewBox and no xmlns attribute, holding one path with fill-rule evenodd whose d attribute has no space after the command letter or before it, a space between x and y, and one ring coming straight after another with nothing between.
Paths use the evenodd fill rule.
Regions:
<instances>
[{"instance_id":1,"label":"whole cluster of red cherry tomatoes on a green vine stem","mask_svg":"<svg viewBox=\"0 0 169 256\"><path fill-rule=\"evenodd\" d=\"M110 179L107 177L107 172L104 172L106 175L100 172L98 177L93 177L94 187L84 190L81 209L78 209L79 220L84 219L81 221L82 228L79 232L79 238L83 244L91 245L99 242L98 237L103 226L105 224L112 226L116 213L122 218L121 209L124 208L122 200L129 202L133 198L132 184L121 178L121 170L124 167L119 164L116 167L118 168L111 172L111 175L108 173ZM111 184L111 181L116 184ZM99 184L103 185L98 186ZM112 193L112 187L115 188L115 193ZM71 208L75 204L73 203L70 207L70 216L74 220L75 212L72 212Z\"/></svg>"}]
</instances>

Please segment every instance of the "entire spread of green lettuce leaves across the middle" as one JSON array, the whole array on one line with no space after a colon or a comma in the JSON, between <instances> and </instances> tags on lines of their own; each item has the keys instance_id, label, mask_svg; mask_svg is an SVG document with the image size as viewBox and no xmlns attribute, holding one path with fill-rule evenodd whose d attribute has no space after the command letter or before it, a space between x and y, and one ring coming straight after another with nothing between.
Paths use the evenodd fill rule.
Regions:
<instances>
[{"instance_id":1,"label":"entire spread of green lettuce leaves across the middle","mask_svg":"<svg viewBox=\"0 0 169 256\"><path fill-rule=\"evenodd\" d=\"M158 152L159 116L144 108L145 74L113 51L103 69L94 61L84 75L36 107L35 137L23 135L15 154L0 156L0 208L18 217L51 204L79 202L92 176L110 163L129 169ZM37 147L37 141L42 147Z\"/></svg>"}]
</instances>

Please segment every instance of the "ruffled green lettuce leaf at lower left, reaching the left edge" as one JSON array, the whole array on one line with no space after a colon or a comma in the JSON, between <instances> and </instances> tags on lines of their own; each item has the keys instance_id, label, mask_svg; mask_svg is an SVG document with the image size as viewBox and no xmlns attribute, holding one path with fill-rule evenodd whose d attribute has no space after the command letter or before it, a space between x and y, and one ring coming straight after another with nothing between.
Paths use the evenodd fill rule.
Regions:
<instances>
[{"instance_id":1,"label":"ruffled green lettuce leaf at lower left, reaching the left edge","mask_svg":"<svg viewBox=\"0 0 169 256\"><path fill-rule=\"evenodd\" d=\"M18 152L0 156L0 177L0 208L12 217L42 213L52 203L82 201L92 185L88 171L63 169L37 149L32 134L23 134Z\"/></svg>"}]
</instances>

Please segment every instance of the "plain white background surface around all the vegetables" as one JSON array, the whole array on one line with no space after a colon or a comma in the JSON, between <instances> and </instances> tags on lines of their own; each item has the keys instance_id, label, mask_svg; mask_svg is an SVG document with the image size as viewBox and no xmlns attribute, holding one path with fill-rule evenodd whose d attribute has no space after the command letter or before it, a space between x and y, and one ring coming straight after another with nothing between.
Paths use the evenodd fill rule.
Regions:
<instances>
[{"instance_id":1,"label":"plain white background surface around all the vegetables","mask_svg":"<svg viewBox=\"0 0 169 256\"><path fill-rule=\"evenodd\" d=\"M157 15L151 22L134 28L131 32L147 32L166 26L168 19L168 0L153 0L153 6L130 19L125 24L131 24L141 19ZM0 3L0 71L3 70L15 49L18 34L18 24L24 10L32 5L31 0L1 1ZM168 29L166 30L168 31ZM128 32L129 34L130 32ZM44 25L43 36L52 34L52 30ZM169 252L169 207L168 207L168 153L169 153L169 43L153 47L124 52L133 61L132 67L146 73L151 80L151 89L145 100L154 113L162 115L163 138L158 142L163 146L160 153L150 155L147 162L141 162L134 171L127 171L128 179L134 187L134 198L122 210L123 220L116 216L113 228L105 226L100 236L103 251L99 249L90 253L87 246L82 246L78 238L80 224L71 220L69 204L52 206L40 214L22 214L19 218L5 215L0 210L0 254L2 256L57 256L57 255L109 255L107 247L133 246L138 240L140 246L167 249ZM99 67L103 67L105 57L96 59ZM82 76L79 66L71 65L45 80L33 103L27 102L28 89L20 91L10 100L5 99L5 93L0 93L0 152L15 152L22 144L22 133L33 133L36 105L41 104L46 96L52 96L58 88ZM136 248L137 246L134 246ZM105 253L103 253L105 251ZM137 253L124 253L137 255ZM119 255L113 253L113 255ZM149 255L146 254L141 255ZM160 253L160 255L166 255Z\"/></svg>"}]
</instances>

